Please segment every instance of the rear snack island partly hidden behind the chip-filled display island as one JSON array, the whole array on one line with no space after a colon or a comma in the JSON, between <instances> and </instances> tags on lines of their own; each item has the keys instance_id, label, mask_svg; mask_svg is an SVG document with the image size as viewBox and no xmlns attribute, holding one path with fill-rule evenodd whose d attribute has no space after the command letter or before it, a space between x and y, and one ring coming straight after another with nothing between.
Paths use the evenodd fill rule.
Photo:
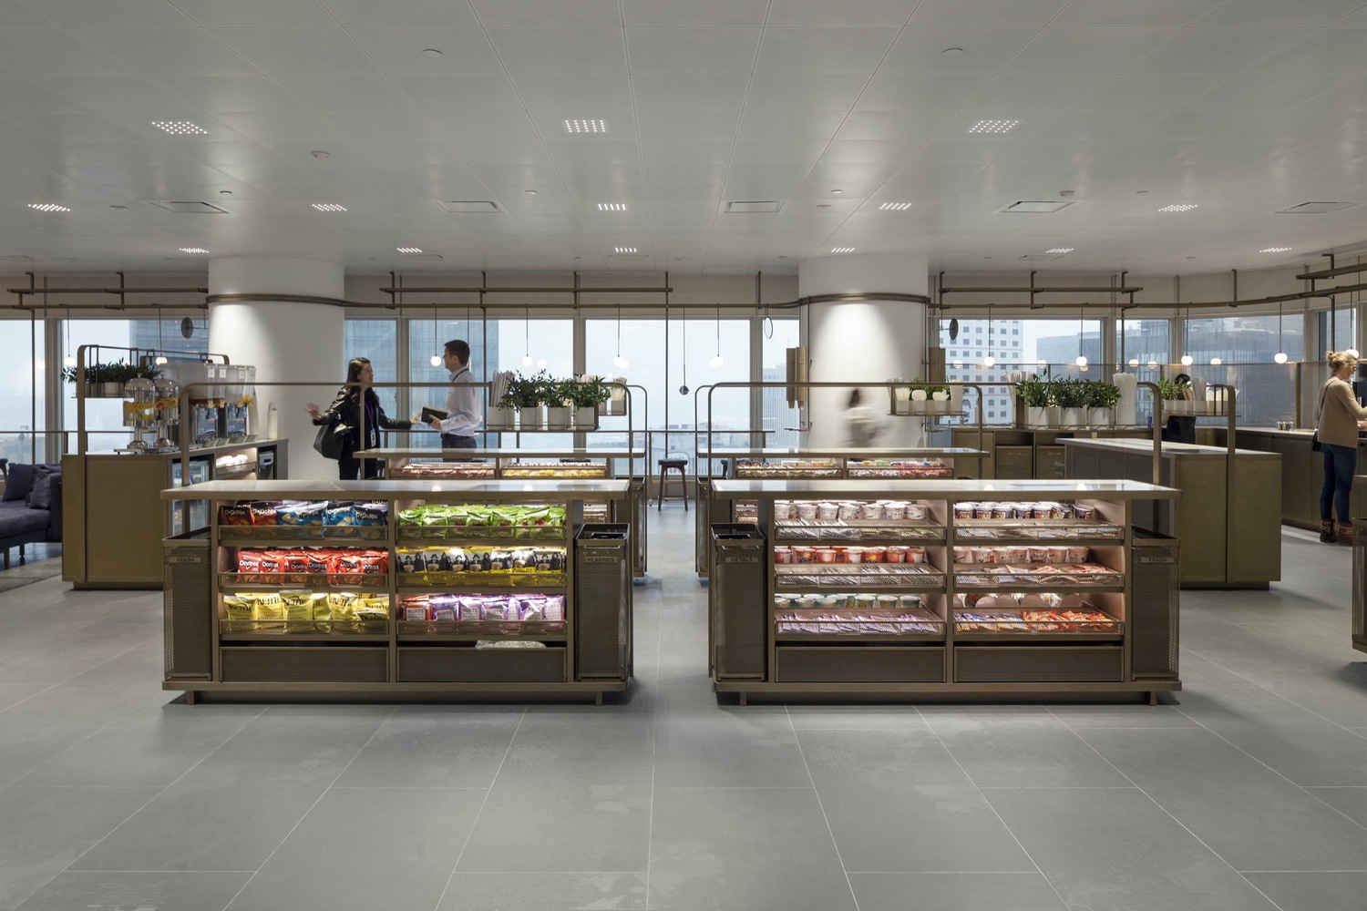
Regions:
<instances>
[{"instance_id":1,"label":"rear snack island partly hidden behind the chip-filled display island","mask_svg":"<svg viewBox=\"0 0 1367 911\"><path fill-rule=\"evenodd\" d=\"M540 479L612 479L618 477L614 460L626 460L630 481L623 500L584 503L585 522L612 522L632 526L632 574L645 575L645 477L632 474L634 459L642 452L630 449L405 449L381 448L360 453L364 459L383 459L388 478L489 481L514 478ZM443 459L463 459L444 462Z\"/></svg>"}]
</instances>

